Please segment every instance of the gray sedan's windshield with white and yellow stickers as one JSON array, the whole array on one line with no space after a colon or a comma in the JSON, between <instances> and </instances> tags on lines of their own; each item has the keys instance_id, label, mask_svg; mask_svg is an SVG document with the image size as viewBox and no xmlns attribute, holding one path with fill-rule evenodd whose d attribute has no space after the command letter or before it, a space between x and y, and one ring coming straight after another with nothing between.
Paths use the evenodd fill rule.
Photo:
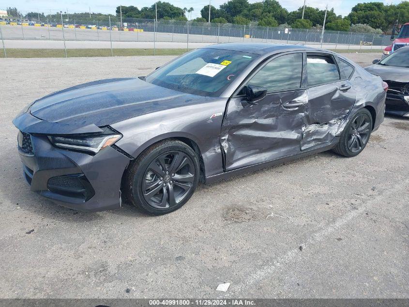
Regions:
<instances>
[{"instance_id":1,"label":"gray sedan's windshield with white and yellow stickers","mask_svg":"<svg viewBox=\"0 0 409 307\"><path fill-rule=\"evenodd\" d=\"M221 49L188 52L145 78L145 81L172 90L218 97L258 55Z\"/></svg>"}]
</instances>

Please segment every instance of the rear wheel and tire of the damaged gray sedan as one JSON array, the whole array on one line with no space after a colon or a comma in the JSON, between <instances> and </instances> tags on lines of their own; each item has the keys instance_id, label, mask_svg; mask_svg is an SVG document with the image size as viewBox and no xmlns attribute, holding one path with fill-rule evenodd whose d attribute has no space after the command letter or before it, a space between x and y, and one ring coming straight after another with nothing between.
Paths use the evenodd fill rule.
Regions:
<instances>
[{"instance_id":1,"label":"rear wheel and tire of the damaged gray sedan","mask_svg":"<svg viewBox=\"0 0 409 307\"><path fill-rule=\"evenodd\" d=\"M333 151L345 157L359 155L368 144L372 127L371 113L365 108L358 110L345 126Z\"/></svg>"}]
</instances>

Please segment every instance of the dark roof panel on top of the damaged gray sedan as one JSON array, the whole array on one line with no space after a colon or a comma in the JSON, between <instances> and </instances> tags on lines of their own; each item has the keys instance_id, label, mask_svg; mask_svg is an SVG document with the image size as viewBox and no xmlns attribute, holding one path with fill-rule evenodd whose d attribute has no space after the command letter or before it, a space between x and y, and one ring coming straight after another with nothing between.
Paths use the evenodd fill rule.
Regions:
<instances>
[{"instance_id":1,"label":"dark roof panel on top of the damaged gray sedan","mask_svg":"<svg viewBox=\"0 0 409 307\"><path fill-rule=\"evenodd\" d=\"M326 51L319 48L312 48L303 45L287 45L287 44L274 44L274 43L222 43L206 46L203 48L211 49L224 49L232 51L242 51L248 53L254 53L258 55L265 55L268 53L296 51L296 50L314 50L314 51Z\"/></svg>"}]
</instances>

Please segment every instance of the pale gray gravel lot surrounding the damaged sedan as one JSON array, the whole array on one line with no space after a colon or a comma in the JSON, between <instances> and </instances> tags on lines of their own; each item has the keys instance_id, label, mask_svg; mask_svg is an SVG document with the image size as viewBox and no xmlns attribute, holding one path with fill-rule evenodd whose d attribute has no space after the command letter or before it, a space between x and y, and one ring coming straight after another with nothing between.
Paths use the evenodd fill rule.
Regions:
<instances>
[{"instance_id":1,"label":"pale gray gravel lot surrounding the damaged sedan","mask_svg":"<svg viewBox=\"0 0 409 307\"><path fill-rule=\"evenodd\" d=\"M160 217L127 204L82 213L29 191L11 123L24 105L171 58L0 59L0 297L409 298L408 119L386 117L355 158L325 152L202 185Z\"/></svg>"}]
</instances>

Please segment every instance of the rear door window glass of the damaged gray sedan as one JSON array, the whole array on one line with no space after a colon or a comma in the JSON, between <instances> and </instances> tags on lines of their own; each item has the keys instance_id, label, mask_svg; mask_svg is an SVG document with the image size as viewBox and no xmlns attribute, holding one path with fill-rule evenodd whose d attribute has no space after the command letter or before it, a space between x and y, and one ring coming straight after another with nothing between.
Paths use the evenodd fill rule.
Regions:
<instances>
[{"instance_id":1,"label":"rear door window glass of the damaged gray sedan","mask_svg":"<svg viewBox=\"0 0 409 307\"><path fill-rule=\"evenodd\" d=\"M307 54L308 86L339 81L339 72L331 55Z\"/></svg>"}]
</instances>

